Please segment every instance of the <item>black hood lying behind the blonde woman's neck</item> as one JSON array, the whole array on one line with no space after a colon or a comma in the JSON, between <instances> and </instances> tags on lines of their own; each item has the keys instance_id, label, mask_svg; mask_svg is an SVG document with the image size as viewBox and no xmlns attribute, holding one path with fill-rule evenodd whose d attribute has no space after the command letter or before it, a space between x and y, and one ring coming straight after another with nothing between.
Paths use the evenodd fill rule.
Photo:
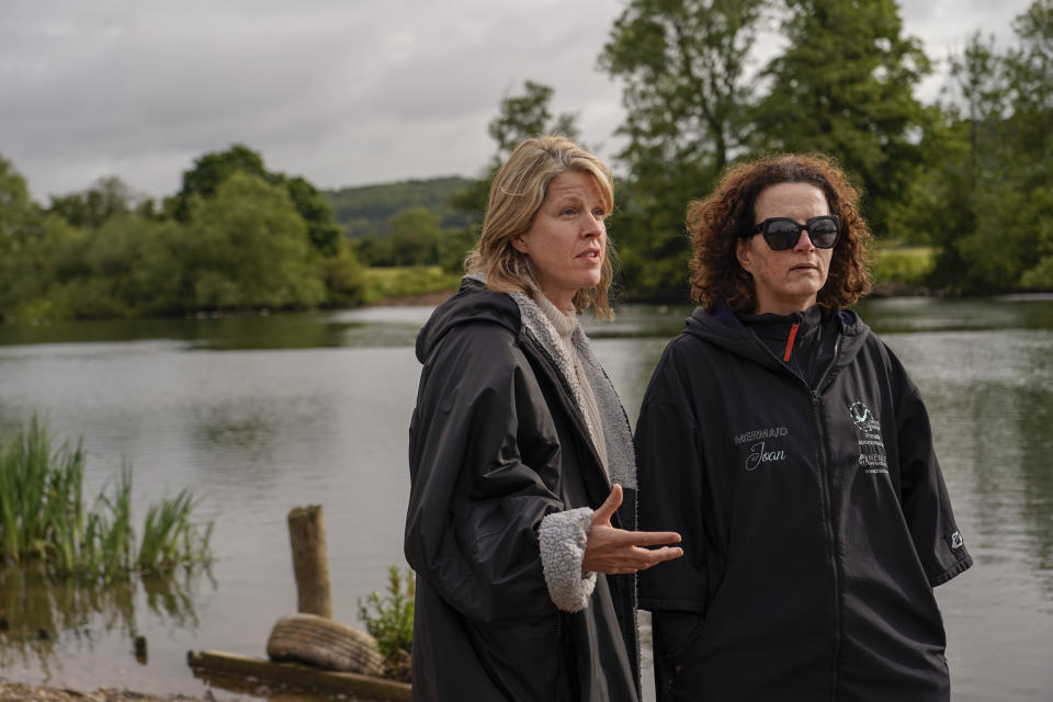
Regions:
<instances>
[{"instance_id":1,"label":"black hood lying behind the blonde woman's neck","mask_svg":"<svg viewBox=\"0 0 1053 702\"><path fill-rule=\"evenodd\" d=\"M461 288L431 313L417 335L417 360L424 363L446 333L457 325L486 321L501 325L519 335L522 327L519 306L508 295L495 293L471 276L461 281Z\"/></svg>"}]
</instances>

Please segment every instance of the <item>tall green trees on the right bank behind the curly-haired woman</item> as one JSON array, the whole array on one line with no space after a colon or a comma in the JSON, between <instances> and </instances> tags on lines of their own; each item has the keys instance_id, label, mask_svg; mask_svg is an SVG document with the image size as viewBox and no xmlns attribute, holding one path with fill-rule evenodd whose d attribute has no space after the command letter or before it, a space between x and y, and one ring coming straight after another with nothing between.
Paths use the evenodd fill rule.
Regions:
<instances>
[{"instance_id":1,"label":"tall green trees on the right bank behind the curly-haired woman","mask_svg":"<svg viewBox=\"0 0 1053 702\"><path fill-rule=\"evenodd\" d=\"M785 48L750 57L777 26ZM933 67L892 0L633 0L600 66L624 83L627 178L611 223L626 292L683 299L684 205L726 166L780 151L836 157L879 245L928 245L927 285L1053 287L1053 2L998 52L974 34L933 104Z\"/></svg>"}]
</instances>

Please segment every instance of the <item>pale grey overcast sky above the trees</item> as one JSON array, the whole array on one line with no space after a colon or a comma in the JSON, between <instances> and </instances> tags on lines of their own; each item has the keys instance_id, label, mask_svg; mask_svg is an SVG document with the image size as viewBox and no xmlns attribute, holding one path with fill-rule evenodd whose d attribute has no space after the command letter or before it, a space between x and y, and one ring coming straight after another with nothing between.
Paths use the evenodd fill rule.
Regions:
<instances>
[{"instance_id":1,"label":"pale grey overcast sky above the trees","mask_svg":"<svg viewBox=\"0 0 1053 702\"><path fill-rule=\"evenodd\" d=\"M597 57L622 0L0 0L0 155L37 201L117 176L155 196L242 143L319 188L476 176L532 79L607 159L621 89ZM1030 0L903 0L943 59L999 47ZM922 98L936 97L929 79Z\"/></svg>"}]
</instances>

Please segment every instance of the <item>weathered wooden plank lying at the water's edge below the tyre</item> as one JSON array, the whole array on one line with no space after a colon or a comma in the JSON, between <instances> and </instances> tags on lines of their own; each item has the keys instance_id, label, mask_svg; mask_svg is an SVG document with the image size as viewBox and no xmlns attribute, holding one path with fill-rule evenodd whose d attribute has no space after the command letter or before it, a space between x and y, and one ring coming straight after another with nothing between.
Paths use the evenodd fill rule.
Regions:
<instances>
[{"instance_id":1,"label":"weathered wooden plank lying at the water's edge below the tyre","mask_svg":"<svg viewBox=\"0 0 1053 702\"><path fill-rule=\"evenodd\" d=\"M410 686L355 672L337 672L310 668L295 663L273 663L222 650L186 652L186 663L194 673L245 679L252 676L260 682L317 692L342 692L383 702L408 702Z\"/></svg>"}]
</instances>

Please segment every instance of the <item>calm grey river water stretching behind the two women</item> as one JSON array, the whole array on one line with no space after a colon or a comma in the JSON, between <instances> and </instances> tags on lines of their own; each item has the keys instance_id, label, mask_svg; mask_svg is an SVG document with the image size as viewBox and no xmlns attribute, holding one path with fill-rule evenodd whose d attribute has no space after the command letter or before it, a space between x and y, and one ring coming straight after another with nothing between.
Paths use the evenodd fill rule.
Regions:
<instances>
[{"instance_id":1,"label":"calm grey river water stretching behind the two women","mask_svg":"<svg viewBox=\"0 0 1053 702\"><path fill-rule=\"evenodd\" d=\"M412 343L429 313L0 326L0 432L35 412L53 437L82 438L90 496L123 461L138 506L192 487L217 556L206 574L94 595L9 568L0 676L200 694L189 649L263 656L274 621L295 611L285 518L299 505L324 507L335 616L361 626L359 598L404 563ZM629 306L614 324L587 324L632 420L689 313ZM975 559L937 589L954 700L1048 701L1053 296L875 299L860 313L921 389ZM147 658L133 655L134 635L146 636Z\"/></svg>"}]
</instances>

